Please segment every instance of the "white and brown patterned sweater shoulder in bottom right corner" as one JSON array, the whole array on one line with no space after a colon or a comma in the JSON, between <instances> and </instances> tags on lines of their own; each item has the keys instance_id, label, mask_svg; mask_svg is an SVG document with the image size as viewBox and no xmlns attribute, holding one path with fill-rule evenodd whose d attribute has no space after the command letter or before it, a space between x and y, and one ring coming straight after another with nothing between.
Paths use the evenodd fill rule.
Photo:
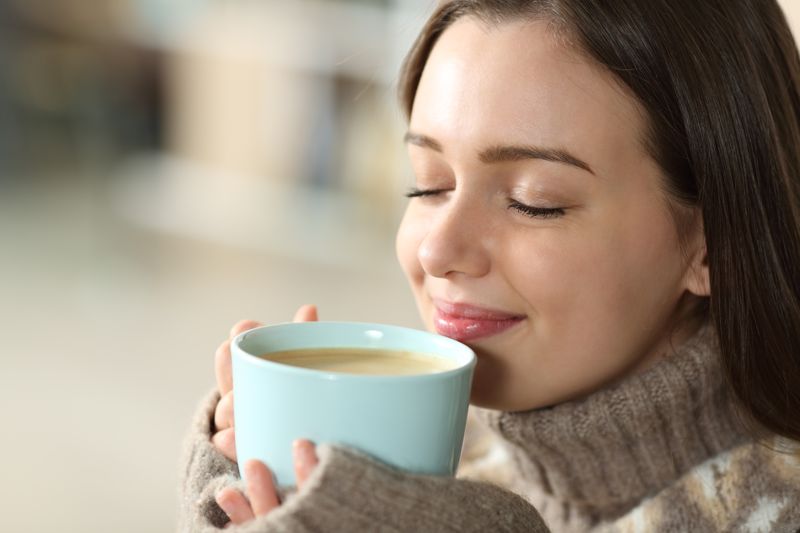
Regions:
<instances>
[{"instance_id":1,"label":"white and brown patterned sweater shoulder in bottom right corner","mask_svg":"<svg viewBox=\"0 0 800 533\"><path fill-rule=\"evenodd\" d=\"M800 448L737 446L693 468L617 523L620 531L782 532L800 528Z\"/></svg>"}]
</instances>

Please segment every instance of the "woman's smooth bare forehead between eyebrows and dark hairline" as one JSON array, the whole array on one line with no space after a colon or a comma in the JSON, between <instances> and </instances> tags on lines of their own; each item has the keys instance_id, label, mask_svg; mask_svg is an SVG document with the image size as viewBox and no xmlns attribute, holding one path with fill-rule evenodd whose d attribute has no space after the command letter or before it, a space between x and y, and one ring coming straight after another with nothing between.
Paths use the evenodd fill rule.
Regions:
<instances>
[{"instance_id":1,"label":"woman's smooth bare forehead between eyebrows and dark hairline","mask_svg":"<svg viewBox=\"0 0 800 533\"><path fill-rule=\"evenodd\" d=\"M456 21L434 46L410 129L448 150L541 144L579 150L602 173L645 154L644 115L610 72L546 21Z\"/></svg>"}]
</instances>

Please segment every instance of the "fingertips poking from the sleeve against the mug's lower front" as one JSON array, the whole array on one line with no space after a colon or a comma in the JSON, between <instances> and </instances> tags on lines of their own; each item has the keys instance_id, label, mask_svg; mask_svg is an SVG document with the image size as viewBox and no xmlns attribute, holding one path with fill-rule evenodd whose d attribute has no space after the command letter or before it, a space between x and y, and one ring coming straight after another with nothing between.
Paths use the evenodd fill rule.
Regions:
<instances>
[{"instance_id":1,"label":"fingertips poking from the sleeve against the mug's lower front","mask_svg":"<svg viewBox=\"0 0 800 533\"><path fill-rule=\"evenodd\" d=\"M292 456L297 489L300 490L319 459L314 444L308 440L294 441ZM281 504L272 472L264 463L251 459L245 463L244 469L247 478L247 497L233 487L222 489L216 496L217 504L231 519L230 524L234 525L244 524L257 516L266 515Z\"/></svg>"}]
</instances>

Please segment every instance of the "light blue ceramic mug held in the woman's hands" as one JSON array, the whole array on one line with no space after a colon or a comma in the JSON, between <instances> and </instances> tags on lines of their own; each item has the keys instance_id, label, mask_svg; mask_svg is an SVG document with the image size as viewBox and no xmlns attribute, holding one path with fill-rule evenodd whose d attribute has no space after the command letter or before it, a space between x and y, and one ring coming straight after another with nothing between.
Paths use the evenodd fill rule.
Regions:
<instances>
[{"instance_id":1,"label":"light blue ceramic mug held in the woman's hands","mask_svg":"<svg viewBox=\"0 0 800 533\"><path fill-rule=\"evenodd\" d=\"M452 369L356 375L300 368L259 355L305 348L373 348L442 357ZM475 354L425 331L354 322L298 322L246 331L231 342L236 455L295 484L291 443L355 448L416 473L453 475L461 455Z\"/></svg>"}]
</instances>

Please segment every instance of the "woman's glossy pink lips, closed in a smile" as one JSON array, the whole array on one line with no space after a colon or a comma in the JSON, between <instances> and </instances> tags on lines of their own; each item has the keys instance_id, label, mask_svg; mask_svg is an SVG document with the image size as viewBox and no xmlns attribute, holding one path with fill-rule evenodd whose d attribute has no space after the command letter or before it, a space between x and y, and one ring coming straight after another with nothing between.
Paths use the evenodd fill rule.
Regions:
<instances>
[{"instance_id":1,"label":"woman's glossy pink lips, closed in a smile","mask_svg":"<svg viewBox=\"0 0 800 533\"><path fill-rule=\"evenodd\" d=\"M461 342L499 335L525 320L524 315L466 303L434 300L433 304L436 332Z\"/></svg>"}]
</instances>

